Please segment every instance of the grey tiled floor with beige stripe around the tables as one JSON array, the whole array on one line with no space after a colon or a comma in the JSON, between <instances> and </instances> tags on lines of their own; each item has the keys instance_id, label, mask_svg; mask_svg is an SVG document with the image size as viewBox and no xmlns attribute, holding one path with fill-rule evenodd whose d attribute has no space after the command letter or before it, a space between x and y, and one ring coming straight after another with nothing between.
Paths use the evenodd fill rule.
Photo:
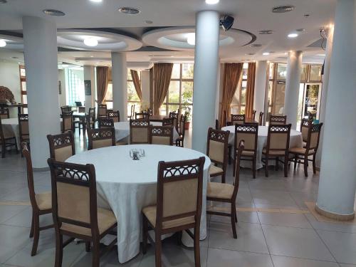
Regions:
<instances>
[{"instance_id":1,"label":"grey tiled floor with beige stripe around the tables","mask_svg":"<svg viewBox=\"0 0 356 267\"><path fill-rule=\"evenodd\" d=\"M83 139L76 137L77 152L84 149ZM27 204L24 167L21 155L13 153L0 159L0 266L53 266L53 229L41 232L38 254L30 256L31 207ZM227 181L230 183L231 172L229 167ZM257 178L252 179L250 169L241 170L238 239L232 238L229 218L209 216L208 237L201 241L201 266L356 266L356 226L319 222L304 204L317 197L318 174L313 175L310 169L309 177L305 178L302 166L293 173L293 164L288 178L283 177L283 169L271 168L270 174L266 178L260 170ZM38 192L50 190L48 172L35 172L35 183ZM23 202L6 204L4 201ZM42 224L48 222L51 216L41 218ZM85 252L83 244L70 244L64 250L63 259L63 266L91 264L91 254ZM162 261L164 266L194 266L194 253L166 239ZM117 253L111 251L104 256L101 266L120 266ZM125 266L155 266L153 248L149 247L145 256L140 253Z\"/></svg>"}]
</instances>

